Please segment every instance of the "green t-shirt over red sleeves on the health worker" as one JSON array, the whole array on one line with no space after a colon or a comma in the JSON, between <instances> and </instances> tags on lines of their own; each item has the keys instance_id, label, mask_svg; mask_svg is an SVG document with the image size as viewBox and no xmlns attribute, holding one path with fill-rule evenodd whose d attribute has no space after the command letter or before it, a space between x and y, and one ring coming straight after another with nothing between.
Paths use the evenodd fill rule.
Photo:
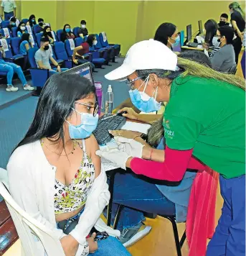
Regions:
<instances>
[{"instance_id":1,"label":"green t-shirt over red sleeves on the health worker","mask_svg":"<svg viewBox=\"0 0 246 256\"><path fill-rule=\"evenodd\" d=\"M166 145L190 150L224 178L245 174L245 91L216 79L171 83L164 114Z\"/></svg>"}]
</instances>

